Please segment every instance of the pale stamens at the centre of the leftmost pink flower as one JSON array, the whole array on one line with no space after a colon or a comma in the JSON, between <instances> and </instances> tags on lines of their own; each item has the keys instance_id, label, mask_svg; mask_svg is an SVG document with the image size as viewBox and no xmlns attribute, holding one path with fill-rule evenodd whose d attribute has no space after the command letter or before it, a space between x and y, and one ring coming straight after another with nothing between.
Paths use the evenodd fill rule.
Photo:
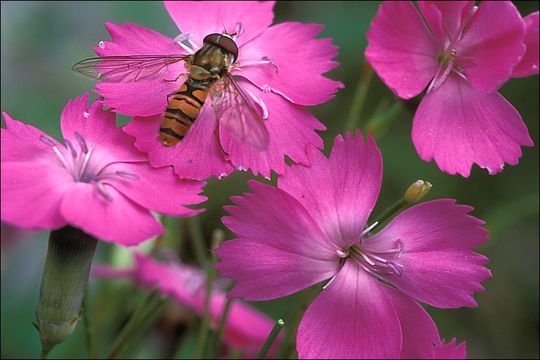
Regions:
<instances>
[{"instance_id":1,"label":"pale stamens at the centre of the leftmost pink flower","mask_svg":"<svg viewBox=\"0 0 540 360\"><path fill-rule=\"evenodd\" d=\"M112 201L112 197L106 190L106 186L112 186L107 182L108 180L139 180L137 174L110 169L111 165L125 163L124 161L93 162L92 154L94 153L94 149L88 146L86 140L79 132L75 132L78 147L75 147L67 139L64 140L64 144L59 144L45 135L41 135L39 139L52 148L62 166L73 177L73 180L95 184L98 193L107 201Z\"/></svg>"}]
</instances>

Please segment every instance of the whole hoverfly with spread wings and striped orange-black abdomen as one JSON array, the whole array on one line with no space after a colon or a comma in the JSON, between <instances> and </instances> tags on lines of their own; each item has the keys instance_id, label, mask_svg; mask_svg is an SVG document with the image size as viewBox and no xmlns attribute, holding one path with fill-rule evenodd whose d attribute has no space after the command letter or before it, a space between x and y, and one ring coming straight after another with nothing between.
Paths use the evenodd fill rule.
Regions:
<instances>
[{"instance_id":1,"label":"whole hoverfly with spread wings and striped orange-black abdomen","mask_svg":"<svg viewBox=\"0 0 540 360\"><path fill-rule=\"evenodd\" d=\"M210 94L218 122L214 132L218 141L218 134L225 130L238 140L264 150L269 141L263 123L267 114L255 95L243 90L231 75L237 58L238 46L225 32L207 35L203 46L192 55L96 57L76 63L72 70L95 80L133 82L162 77L169 65L184 61L188 72L178 78L184 75L187 80L168 95L157 134L161 144L174 146L186 136Z\"/></svg>"}]
</instances>

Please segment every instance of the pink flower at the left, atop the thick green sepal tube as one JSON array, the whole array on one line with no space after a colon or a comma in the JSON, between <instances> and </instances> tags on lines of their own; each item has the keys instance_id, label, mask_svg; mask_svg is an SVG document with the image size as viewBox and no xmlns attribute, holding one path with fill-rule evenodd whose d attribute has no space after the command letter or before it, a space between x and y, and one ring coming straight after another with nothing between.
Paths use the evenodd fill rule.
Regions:
<instances>
[{"instance_id":1,"label":"pink flower at the left, atop the thick green sepal tube","mask_svg":"<svg viewBox=\"0 0 540 360\"><path fill-rule=\"evenodd\" d=\"M150 210L192 216L203 182L154 169L115 114L88 94L61 116L64 143L4 113L2 221L27 229L77 227L107 242L135 245L163 232Z\"/></svg>"}]
</instances>

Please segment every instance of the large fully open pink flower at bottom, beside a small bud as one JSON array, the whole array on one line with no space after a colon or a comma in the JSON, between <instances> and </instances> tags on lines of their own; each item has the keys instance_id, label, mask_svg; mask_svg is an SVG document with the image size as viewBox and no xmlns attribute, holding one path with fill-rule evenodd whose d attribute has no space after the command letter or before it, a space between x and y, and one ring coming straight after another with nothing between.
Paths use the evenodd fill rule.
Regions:
<instances>
[{"instance_id":1,"label":"large fully open pink flower at bottom, beside a small bud","mask_svg":"<svg viewBox=\"0 0 540 360\"><path fill-rule=\"evenodd\" d=\"M487 258L472 251L487 241L482 221L443 199L370 235L382 180L373 138L338 136L329 158L314 147L308 158L311 167L292 166L277 188L251 181L253 193L226 207L237 239L217 249L216 267L236 281L230 295L270 300L326 281L298 328L301 358L435 356L443 343L416 301L477 305L473 293L491 278Z\"/></svg>"}]
</instances>

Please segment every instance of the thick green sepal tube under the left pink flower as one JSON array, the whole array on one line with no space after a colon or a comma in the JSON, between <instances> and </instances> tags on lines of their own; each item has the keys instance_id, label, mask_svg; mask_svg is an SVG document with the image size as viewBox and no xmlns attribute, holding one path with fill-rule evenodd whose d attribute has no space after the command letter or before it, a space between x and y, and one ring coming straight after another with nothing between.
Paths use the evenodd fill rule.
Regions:
<instances>
[{"instance_id":1,"label":"thick green sepal tube under the left pink flower","mask_svg":"<svg viewBox=\"0 0 540 360\"><path fill-rule=\"evenodd\" d=\"M35 324L42 358L77 326L96 247L96 238L71 226L49 235Z\"/></svg>"}]
</instances>

